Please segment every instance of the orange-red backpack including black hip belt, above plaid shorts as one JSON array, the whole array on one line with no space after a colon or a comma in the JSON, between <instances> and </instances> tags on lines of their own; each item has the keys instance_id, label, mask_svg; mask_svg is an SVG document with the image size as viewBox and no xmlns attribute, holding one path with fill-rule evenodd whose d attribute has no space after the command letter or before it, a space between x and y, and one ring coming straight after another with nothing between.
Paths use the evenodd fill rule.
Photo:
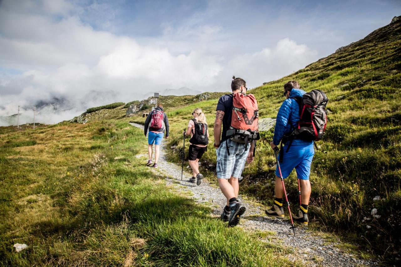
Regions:
<instances>
[{"instance_id":1,"label":"orange-red backpack including black hip belt, above plaid shorts","mask_svg":"<svg viewBox=\"0 0 401 267\"><path fill-rule=\"evenodd\" d=\"M245 146L247 146L248 142L259 140L258 111L254 95L245 95L241 92L235 93L233 95L231 125L227 130L226 137L234 142L245 144Z\"/></svg>"}]
</instances>

